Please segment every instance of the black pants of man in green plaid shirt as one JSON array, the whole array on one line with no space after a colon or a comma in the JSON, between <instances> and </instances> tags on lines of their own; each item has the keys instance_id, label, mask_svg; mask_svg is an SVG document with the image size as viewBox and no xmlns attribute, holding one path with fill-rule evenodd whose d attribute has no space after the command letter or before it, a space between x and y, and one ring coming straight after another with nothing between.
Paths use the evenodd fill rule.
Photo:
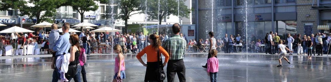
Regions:
<instances>
[{"instance_id":1,"label":"black pants of man in green plaid shirt","mask_svg":"<svg viewBox=\"0 0 331 82\"><path fill-rule=\"evenodd\" d=\"M168 82L174 82L176 73L178 74L179 82L186 82L183 59L168 61L168 66L166 68L166 77Z\"/></svg>"}]
</instances>

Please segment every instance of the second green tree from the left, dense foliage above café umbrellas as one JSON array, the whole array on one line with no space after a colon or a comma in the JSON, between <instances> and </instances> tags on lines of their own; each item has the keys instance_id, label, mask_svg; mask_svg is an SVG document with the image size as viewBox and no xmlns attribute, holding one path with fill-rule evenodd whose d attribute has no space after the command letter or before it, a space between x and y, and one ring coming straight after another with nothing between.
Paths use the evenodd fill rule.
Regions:
<instances>
[{"instance_id":1,"label":"second green tree from the left, dense foliage above caf\u00e9 umbrellas","mask_svg":"<svg viewBox=\"0 0 331 82\"><path fill-rule=\"evenodd\" d=\"M61 7L65 0L29 0L33 6L23 6L20 9L21 16L27 15L30 19L37 19L36 24L41 21L53 22L56 9ZM24 4L22 4L24 5Z\"/></svg>"}]
</instances>

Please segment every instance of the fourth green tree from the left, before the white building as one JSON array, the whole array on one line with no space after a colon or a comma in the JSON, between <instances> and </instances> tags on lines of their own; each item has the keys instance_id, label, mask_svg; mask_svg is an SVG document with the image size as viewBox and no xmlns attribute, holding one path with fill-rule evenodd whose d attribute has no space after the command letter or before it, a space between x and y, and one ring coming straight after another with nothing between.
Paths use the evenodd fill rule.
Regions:
<instances>
[{"instance_id":1,"label":"fourth green tree from the left, before the white building","mask_svg":"<svg viewBox=\"0 0 331 82\"><path fill-rule=\"evenodd\" d=\"M116 18L124 20L125 28L127 28L127 20L134 14L143 13L142 9L145 4L145 0L115 0L120 12L116 15Z\"/></svg>"}]
</instances>

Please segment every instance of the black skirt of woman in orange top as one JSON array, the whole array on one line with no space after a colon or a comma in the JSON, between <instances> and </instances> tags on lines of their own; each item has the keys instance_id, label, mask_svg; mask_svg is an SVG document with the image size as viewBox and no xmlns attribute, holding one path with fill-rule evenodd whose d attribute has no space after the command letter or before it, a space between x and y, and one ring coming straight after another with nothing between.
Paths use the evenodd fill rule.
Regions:
<instances>
[{"instance_id":1,"label":"black skirt of woman in orange top","mask_svg":"<svg viewBox=\"0 0 331 82\"><path fill-rule=\"evenodd\" d=\"M159 61L159 64L162 64L162 62ZM149 81L159 82L157 79L157 76L160 73L158 68L159 64L158 62L147 62L146 74L144 80L145 82L149 82Z\"/></svg>"}]
</instances>

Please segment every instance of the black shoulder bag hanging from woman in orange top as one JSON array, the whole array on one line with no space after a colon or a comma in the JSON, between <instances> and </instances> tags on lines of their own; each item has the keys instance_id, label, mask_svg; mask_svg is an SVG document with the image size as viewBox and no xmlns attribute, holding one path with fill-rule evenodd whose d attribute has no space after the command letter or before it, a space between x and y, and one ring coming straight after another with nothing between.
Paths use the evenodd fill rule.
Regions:
<instances>
[{"instance_id":1,"label":"black shoulder bag hanging from woman in orange top","mask_svg":"<svg viewBox=\"0 0 331 82\"><path fill-rule=\"evenodd\" d=\"M159 81L163 81L163 80L165 80L166 79L166 73L165 73L165 71L163 70L163 64L162 64L162 56L161 56L161 61L160 61L160 57L159 56L161 56L160 55L160 51L158 50L158 71L159 71L159 74L158 74L158 76L157 76L157 78L158 78L158 80Z\"/></svg>"}]
</instances>

